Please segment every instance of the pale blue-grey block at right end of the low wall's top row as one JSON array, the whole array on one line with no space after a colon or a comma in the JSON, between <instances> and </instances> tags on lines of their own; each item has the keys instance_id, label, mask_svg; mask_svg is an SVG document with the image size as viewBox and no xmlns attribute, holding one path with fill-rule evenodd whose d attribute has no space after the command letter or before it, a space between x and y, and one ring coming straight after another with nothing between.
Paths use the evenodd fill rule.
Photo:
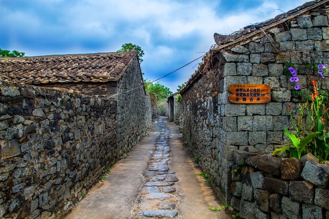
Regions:
<instances>
[{"instance_id":1,"label":"pale blue-grey block at right end of the low wall's top row","mask_svg":"<svg viewBox=\"0 0 329 219\"><path fill-rule=\"evenodd\" d=\"M329 181L329 168L325 165L306 161L300 176L315 186L325 189Z\"/></svg>"}]
</instances>

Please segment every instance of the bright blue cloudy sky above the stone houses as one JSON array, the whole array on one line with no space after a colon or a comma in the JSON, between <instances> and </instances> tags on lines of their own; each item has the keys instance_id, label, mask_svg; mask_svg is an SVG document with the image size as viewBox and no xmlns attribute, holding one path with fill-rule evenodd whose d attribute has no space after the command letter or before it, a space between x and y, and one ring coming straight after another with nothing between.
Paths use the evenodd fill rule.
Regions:
<instances>
[{"instance_id":1,"label":"bright blue cloudy sky above the stone houses","mask_svg":"<svg viewBox=\"0 0 329 219\"><path fill-rule=\"evenodd\" d=\"M26 56L144 50L155 80L204 55L213 34L229 34L308 0L0 0L0 48ZM280 9L280 10L277 10ZM176 92L198 59L160 82Z\"/></svg>"}]
</instances>

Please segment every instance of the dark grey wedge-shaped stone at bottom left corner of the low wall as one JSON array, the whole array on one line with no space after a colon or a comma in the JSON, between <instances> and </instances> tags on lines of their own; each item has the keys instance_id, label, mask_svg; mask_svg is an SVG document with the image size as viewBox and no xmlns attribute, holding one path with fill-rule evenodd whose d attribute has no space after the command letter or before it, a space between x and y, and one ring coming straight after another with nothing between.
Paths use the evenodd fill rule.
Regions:
<instances>
[{"instance_id":1,"label":"dark grey wedge-shaped stone at bottom left corner of the low wall","mask_svg":"<svg viewBox=\"0 0 329 219\"><path fill-rule=\"evenodd\" d=\"M270 215L259 210L254 202L241 200L240 217L245 219L269 219Z\"/></svg>"}]
</instances>

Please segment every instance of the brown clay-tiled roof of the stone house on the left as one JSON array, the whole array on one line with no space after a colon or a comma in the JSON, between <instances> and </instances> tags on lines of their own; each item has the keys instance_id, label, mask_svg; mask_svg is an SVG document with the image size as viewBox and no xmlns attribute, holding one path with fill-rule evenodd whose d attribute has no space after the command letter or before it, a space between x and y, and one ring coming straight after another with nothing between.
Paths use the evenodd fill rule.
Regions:
<instances>
[{"instance_id":1,"label":"brown clay-tiled roof of the stone house on the left","mask_svg":"<svg viewBox=\"0 0 329 219\"><path fill-rule=\"evenodd\" d=\"M136 51L0 58L0 79L23 84L119 80Z\"/></svg>"}]
</instances>

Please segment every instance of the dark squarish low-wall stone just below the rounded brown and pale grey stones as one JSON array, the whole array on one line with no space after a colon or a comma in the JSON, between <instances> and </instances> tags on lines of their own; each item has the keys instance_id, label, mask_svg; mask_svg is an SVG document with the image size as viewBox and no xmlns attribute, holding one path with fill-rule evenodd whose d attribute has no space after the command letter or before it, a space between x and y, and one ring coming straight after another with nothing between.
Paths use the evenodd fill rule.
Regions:
<instances>
[{"instance_id":1,"label":"dark squarish low-wall stone just below the rounded brown and pale grey stones","mask_svg":"<svg viewBox=\"0 0 329 219\"><path fill-rule=\"evenodd\" d=\"M313 204L314 185L308 181L290 181L289 198L292 201Z\"/></svg>"}]
</instances>

